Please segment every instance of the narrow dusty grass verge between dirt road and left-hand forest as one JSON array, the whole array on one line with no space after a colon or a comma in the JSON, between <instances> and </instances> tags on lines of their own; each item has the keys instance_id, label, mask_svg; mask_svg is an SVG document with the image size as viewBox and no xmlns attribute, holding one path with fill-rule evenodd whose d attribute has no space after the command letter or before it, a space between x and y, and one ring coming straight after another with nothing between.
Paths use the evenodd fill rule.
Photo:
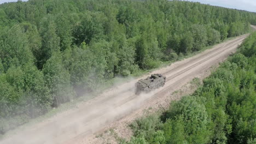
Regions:
<instances>
[{"instance_id":1,"label":"narrow dusty grass verge between dirt road and left-hand forest","mask_svg":"<svg viewBox=\"0 0 256 144\"><path fill-rule=\"evenodd\" d=\"M228 41L228 40L235 39L235 38L236 37L228 38L228 39L222 41L222 43L224 43L225 41ZM80 103L82 101L88 101L88 100L90 100L92 98L95 98L95 97L97 97L98 94L102 93L103 91L106 91L106 89L108 89L108 88L110 88L110 87L112 87L114 85L121 85L122 83L129 82L129 81L131 81L132 79L134 79L136 77L140 77L140 76L148 74L148 73L150 73L150 72L152 72L154 70L167 67L168 65L171 65L174 62L182 61L185 58L193 57L193 56L195 56L195 55L197 55L197 54L199 54L199 53L201 53L201 52L203 52L205 50L211 49L213 46L215 46L215 45L204 47L200 51L197 51L197 52L194 52L194 53L189 53L188 55L185 55L185 56L179 56L176 61L162 62L159 65L159 67L155 68L155 69L138 70L137 73L132 74L131 76L115 77L114 79L108 80L108 81L106 81L104 83L104 85L102 85L100 88L98 88L98 91L96 91L94 93L86 94L86 95L84 95L84 97L77 98L77 99L75 99L75 100L73 100L73 101L71 101L69 103L62 104L57 109L52 109L52 110L50 110L48 113L46 113L43 116L31 119L30 122L25 123L24 125L21 125L20 127L14 129L14 130L8 131L5 135L2 135L2 136L0 135L0 139L4 138L5 136L8 136L8 135L13 135L15 133L18 133L18 131L25 129L26 127L30 127L31 125L36 124L38 122L42 122L42 121L44 121L47 118L51 118L51 117L57 115L58 113L64 112L64 111L69 110L69 109L74 109L78 103Z\"/></svg>"}]
</instances>

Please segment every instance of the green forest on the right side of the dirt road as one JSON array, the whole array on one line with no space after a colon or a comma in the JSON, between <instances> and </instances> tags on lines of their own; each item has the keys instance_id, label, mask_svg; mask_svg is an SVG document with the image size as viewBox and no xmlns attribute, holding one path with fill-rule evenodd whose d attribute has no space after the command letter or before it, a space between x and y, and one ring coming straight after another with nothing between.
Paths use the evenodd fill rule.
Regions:
<instances>
[{"instance_id":1,"label":"green forest on the right side of the dirt road","mask_svg":"<svg viewBox=\"0 0 256 144\"><path fill-rule=\"evenodd\" d=\"M126 144L256 143L256 32L192 95L131 124Z\"/></svg>"}]
</instances>

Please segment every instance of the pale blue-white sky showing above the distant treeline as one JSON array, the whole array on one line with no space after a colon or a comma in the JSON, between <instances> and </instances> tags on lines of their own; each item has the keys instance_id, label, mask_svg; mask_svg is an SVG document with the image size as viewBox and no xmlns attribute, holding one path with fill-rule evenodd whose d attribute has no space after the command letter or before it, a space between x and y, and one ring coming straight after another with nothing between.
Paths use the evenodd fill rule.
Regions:
<instances>
[{"instance_id":1,"label":"pale blue-white sky showing above the distant treeline","mask_svg":"<svg viewBox=\"0 0 256 144\"><path fill-rule=\"evenodd\" d=\"M6 2L17 2L18 0L0 0L0 4ZM28 0L22 0L28 1ZM256 12L256 0L182 0L200 2L203 4L217 5L225 8L240 9Z\"/></svg>"}]
</instances>

